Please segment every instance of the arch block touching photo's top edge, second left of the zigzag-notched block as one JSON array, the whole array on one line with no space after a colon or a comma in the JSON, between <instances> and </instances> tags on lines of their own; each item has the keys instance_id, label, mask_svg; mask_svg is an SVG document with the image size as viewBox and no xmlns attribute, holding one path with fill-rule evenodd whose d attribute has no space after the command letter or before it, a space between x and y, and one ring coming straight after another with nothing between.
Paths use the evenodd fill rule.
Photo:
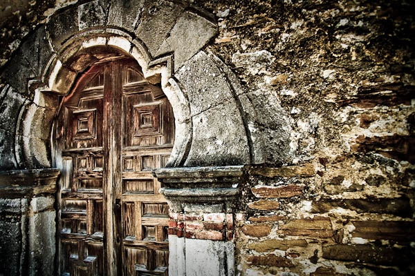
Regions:
<instances>
[{"instance_id":1,"label":"arch block touching photo's top edge, second left of the zigzag-notched block","mask_svg":"<svg viewBox=\"0 0 415 276\"><path fill-rule=\"evenodd\" d=\"M144 7L144 0L114 1L109 8L109 26L118 26L129 32L134 31L140 19L141 9Z\"/></svg>"}]
</instances>

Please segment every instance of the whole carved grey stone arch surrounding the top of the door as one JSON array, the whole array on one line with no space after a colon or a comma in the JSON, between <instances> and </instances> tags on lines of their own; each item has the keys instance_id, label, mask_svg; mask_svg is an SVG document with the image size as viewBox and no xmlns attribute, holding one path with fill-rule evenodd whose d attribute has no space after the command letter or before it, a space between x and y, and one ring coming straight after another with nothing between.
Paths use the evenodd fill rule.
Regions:
<instances>
[{"instance_id":1,"label":"whole carved grey stone arch surrounding the top of the door","mask_svg":"<svg viewBox=\"0 0 415 276\"><path fill-rule=\"evenodd\" d=\"M137 2L143 12L116 8L120 1L109 6L98 0L69 6L50 16L22 43L1 74L9 84L2 94L14 99L19 112L18 119L10 119L15 130L6 135L12 141L6 145L12 149L12 161L0 166L52 166L50 132L45 130L51 128L57 95L66 94L77 74L94 60L77 53L98 46L130 55L149 81L161 83L176 117L169 166L264 161L264 143L255 131L255 110L246 91L219 58L201 50L216 34L212 16L189 3ZM77 21L68 21L75 15ZM149 26L157 26L157 32Z\"/></svg>"}]
</instances>

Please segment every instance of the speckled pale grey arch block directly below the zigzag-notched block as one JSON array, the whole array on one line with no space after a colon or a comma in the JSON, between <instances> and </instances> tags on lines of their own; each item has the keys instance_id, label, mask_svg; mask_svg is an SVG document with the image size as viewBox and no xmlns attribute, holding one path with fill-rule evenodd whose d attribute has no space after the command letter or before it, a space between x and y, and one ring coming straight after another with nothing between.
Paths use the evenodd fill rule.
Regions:
<instances>
[{"instance_id":1,"label":"speckled pale grey arch block directly below the zigzag-notched block","mask_svg":"<svg viewBox=\"0 0 415 276\"><path fill-rule=\"evenodd\" d=\"M187 93L192 116L232 99L225 76L205 52L187 61L175 77Z\"/></svg>"}]
</instances>

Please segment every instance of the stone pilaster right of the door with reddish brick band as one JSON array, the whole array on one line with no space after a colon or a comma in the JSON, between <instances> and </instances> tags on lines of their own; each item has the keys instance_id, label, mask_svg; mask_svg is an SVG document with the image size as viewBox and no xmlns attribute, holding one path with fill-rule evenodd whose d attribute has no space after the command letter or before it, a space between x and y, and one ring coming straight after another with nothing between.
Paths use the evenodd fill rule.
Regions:
<instances>
[{"instance_id":1,"label":"stone pilaster right of the door with reddish brick band","mask_svg":"<svg viewBox=\"0 0 415 276\"><path fill-rule=\"evenodd\" d=\"M154 171L169 203L169 275L234 275L234 204L243 166Z\"/></svg>"}]
</instances>

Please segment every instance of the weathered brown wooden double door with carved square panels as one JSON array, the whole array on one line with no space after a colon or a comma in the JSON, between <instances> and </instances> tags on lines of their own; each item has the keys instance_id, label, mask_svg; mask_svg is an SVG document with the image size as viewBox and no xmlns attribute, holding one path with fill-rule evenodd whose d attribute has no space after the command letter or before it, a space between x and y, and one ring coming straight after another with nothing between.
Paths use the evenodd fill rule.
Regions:
<instances>
[{"instance_id":1,"label":"weathered brown wooden double door with carved square panels","mask_svg":"<svg viewBox=\"0 0 415 276\"><path fill-rule=\"evenodd\" d=\"M55 121L61 274L167 275L168 206L151 169L173 141L172 107L136 61L80 77Z\"/></svg>"}]
</instances>

